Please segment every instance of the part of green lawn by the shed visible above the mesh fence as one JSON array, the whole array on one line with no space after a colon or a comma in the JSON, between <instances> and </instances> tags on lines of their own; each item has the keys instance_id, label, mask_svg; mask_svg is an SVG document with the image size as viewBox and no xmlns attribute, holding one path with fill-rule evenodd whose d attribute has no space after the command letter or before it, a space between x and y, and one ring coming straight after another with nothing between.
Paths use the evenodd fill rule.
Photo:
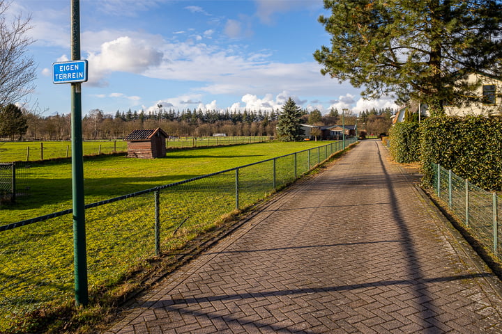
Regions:
<instances>
[{"instance_id":1,"label":"part of green lawn by the shed visible above the mesh fence","mask_svg":"<svg viewBox=\"0 0 502 334\"><path fill-rule=\"evenodd\" d=\"M200 148L168 152L162 159L110 156L84 158L86 204L326 143L328 142L277 142ZM26 196L18 196L16 205L1 207L0 225L72 207L70 161L47 161L30 166L29 174L26 175L28 179L22 181L24 186L29 186Z\"/></svg>"}]
</instances>

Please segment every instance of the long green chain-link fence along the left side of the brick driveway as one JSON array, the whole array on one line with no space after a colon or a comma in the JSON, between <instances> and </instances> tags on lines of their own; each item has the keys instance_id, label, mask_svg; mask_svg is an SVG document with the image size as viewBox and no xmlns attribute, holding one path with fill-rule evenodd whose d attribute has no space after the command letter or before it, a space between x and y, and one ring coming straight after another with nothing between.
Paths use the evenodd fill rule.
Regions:
<instances>
[{"instance_id":1,"label":"long green chain-link fence along the left side of the brick driveway","mask_svg":"<svg viewBox=\"0 0 502 334\"><path fill-rule=\"evenodd\" d=\"M86 205L91 299L340 150L341 141ZM0 332L40 310L73 303L71 213L0 226Z\"/></svg>"}]
</instances>

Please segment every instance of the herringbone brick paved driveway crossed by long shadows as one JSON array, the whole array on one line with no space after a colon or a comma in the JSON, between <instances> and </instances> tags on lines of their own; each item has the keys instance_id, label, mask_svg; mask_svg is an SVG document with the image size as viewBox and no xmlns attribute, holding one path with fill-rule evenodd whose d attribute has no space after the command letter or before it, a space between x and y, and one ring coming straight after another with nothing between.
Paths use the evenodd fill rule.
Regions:
<instances>
[{"instance_id":1,"label":"herringbone brick paved driveway crossed by long shadows","mask_svg":"<svg viewBox=\"0 0 502 334\"><path fill-rule=\"evenodd\" d=\"M498 280L445 226L363 141L105 333L502 333Z\"/></svg>"}]
</instances>

